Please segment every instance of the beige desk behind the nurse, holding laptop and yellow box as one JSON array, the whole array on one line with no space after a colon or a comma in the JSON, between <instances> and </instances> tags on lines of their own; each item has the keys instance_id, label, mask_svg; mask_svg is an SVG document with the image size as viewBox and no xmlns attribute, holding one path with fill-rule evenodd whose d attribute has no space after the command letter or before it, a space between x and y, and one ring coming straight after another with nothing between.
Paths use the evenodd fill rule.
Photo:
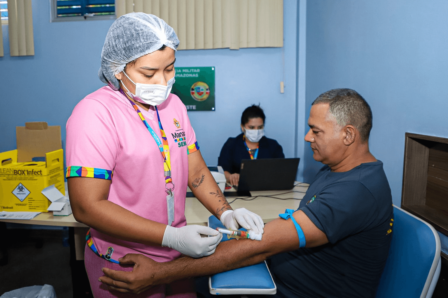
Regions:
<instances>
[{"instance_id":1,"label":"beige desk behind the nurse, holding laptop and yellow box","mask_svg":"<svg viewBox=\"0 0 448 298\"><path fill-rule=\"evenodd\" d=\"M252 197L226 197L233 209L246 208L263 218L263 222L270 222L283 213L285 209L297 209L300 201L308 189L307 183L296 182L291 190L255 191ZM233 190L233 189L229 189ZM187 197L185 202L185 218L187 225L207 225L210 212L202 206L195 197ZM33 219L0 219L2 222L24 223L32 225L71 227L74 231L76 260L84 260L84 246L88 227L77 222L73 214L68 216L54 216L52 212L43 212Z\"/></svg>"}]
</instances>

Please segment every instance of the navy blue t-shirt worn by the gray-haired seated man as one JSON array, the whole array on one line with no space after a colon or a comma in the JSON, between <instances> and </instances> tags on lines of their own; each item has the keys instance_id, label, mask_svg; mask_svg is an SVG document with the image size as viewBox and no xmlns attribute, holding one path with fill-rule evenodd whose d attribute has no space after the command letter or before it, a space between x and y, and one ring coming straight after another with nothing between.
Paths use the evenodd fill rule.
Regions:
<instances>
[{"instance_id":1,"label":"navy blue t-shirt worn by the gray-haired seated man","mask_svg":"<svg viewBox=\"0 0 448 298\"><path fill-rule=\"evenodd\" d=\"M272 256L277 297L375 297L392 239L392 194L383 163L320 169L298 208L329 243Z\"/></svg>"}]
</instances>

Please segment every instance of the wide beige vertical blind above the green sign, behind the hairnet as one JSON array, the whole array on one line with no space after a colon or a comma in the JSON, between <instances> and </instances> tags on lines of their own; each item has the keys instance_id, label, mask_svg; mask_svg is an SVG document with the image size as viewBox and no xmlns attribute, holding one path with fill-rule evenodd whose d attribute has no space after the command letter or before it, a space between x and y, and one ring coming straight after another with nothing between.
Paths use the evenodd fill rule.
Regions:
<instances>
[{"instance_id":1,"label":"wide beige vertical blind above the green sign, behind the hairnet","mask_svg":"<svg viewBox=\"0 0 448 298\"><path fill-rule=\"evenodd\" d=\"M117 17L133 11L173 27L178 50L283 46L283 0L115 0Z\"/></svg>"}]
</instances>

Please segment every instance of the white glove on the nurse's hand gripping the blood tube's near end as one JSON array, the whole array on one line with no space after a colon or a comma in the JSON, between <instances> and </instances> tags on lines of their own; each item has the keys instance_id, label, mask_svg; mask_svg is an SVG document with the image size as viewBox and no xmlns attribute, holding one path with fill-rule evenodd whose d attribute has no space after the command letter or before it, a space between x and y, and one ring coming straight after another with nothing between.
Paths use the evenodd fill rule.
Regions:
<instances>
[{"instance_id":1,"label":"white glove on the nurse's hand gripping the blood tube's near end","mask_svg":"<svg viewBox=\"0 0 448 298\"><path fill-rule=\"evenodd\" d=\"M211 237L201 237L201 234ZM167 226L162 246L168 246L187 256L200 258L214 253L222 236L220 232L205 226L190 225L180 228Z\"/></svg>"}]
</instances>

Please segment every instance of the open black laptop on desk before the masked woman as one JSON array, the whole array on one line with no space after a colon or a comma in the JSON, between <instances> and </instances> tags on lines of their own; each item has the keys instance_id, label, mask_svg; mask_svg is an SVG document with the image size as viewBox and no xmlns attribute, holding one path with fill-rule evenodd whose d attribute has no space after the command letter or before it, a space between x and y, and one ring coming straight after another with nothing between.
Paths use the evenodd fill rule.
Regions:
<instances>
[{"instance_id":1,"label":"open black laptop on desk before the masked woman","mask_svg":"<svg viewBox=\"0 0 448 298\"><path fill-rule=\"evenodd\" d=\"M237 192L224 196L250 196L251 191L293 189L300 158L241 160Z\"/></svg>"}]
</instances>

